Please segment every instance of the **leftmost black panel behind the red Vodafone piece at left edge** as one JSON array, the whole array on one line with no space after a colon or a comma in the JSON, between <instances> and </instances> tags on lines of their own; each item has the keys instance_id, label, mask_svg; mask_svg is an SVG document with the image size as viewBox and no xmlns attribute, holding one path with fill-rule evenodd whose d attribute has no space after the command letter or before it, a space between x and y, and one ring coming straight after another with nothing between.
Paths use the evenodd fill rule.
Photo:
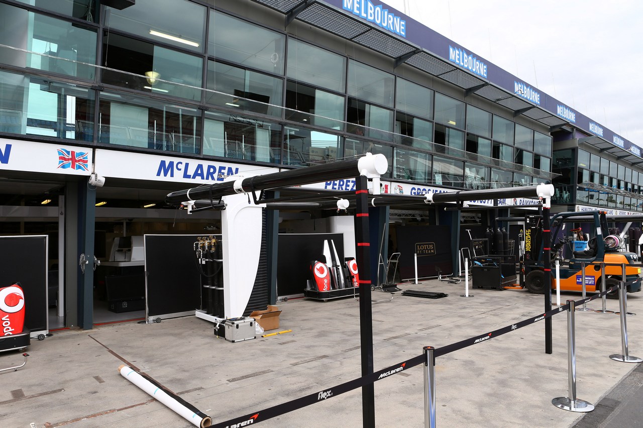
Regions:
<instances>
[{"instance_id":1,"label":"leftmost black panel behind the red Vodafone piece at left edge","mask_svg":"<svg viewBox=\"0 0 643 428\"><path fill-rule=\"evenodd\" d=\"M31 332L46 331L46 235L0 236L0 288L16 282L24 290L24 326Z\"/></svg>"}]
</instances>

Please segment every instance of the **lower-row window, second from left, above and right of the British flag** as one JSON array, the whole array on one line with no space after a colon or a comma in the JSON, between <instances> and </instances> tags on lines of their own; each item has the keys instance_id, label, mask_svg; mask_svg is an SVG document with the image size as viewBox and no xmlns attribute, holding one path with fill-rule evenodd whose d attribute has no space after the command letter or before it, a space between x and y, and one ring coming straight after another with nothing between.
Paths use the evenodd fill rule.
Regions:
<instances>
[{"instance_id":1,"label":"lower-row window, second from left, above and right of the British flag","mask_svg":"<svg viewBox=\"0 0 643 428\"><path fill-rule=\"evenodd\" d=\"M152 98L104 91L98 141L167 152L201 153L201 112Z\"/></svg>"}]
</instances>

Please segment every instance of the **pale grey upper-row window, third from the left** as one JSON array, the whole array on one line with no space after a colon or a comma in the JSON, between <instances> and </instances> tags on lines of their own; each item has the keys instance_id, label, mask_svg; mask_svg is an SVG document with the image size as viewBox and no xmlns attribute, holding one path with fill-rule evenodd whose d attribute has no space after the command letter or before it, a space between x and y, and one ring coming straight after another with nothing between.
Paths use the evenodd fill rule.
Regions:
<instances>
[{"instance_id":1,"label":"pale grey upper-row window, third from the left","mask_svg":"<svg viewBox=\"0 0 643 428\"><path fill-rule=\"evenodd\" d=\"M209 37L211 57L284 74L285 35L282 33L213 10Z\"/></svg>"}]
</instances>

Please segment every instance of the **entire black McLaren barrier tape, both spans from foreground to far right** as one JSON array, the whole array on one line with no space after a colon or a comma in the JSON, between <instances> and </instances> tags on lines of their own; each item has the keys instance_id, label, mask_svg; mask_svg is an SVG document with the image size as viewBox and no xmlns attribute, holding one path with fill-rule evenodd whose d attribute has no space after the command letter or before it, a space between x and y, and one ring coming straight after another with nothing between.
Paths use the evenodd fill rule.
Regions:
<instances>
[{"instance_id":1,"label":"entire black McLaren barrier tape, both spans from foreground to far right","mask_svg":"<svg viewBox=\"0 0 643 428\"><path fill-rule=\"evenodd\" d=\"M601 298L602 296L605 296L608 292L612 292L617 289L619 289L619 285L615 285L614 287L611 287L610 289L607 289L604 292L594 294L591 297L581 299L575 302L575 305L579 307L584 303L588 303L593 299ZM461 350L462 348L466 348L467 346L485 342L489 339L492 339L493 337L498 337L505 333L518 330L518 328L532 325L545 318L552 317L561 312L566 312L567 310L569 310L569 303L567 305L563 305L561 307L557 307L556 309L550 310L545 314L539 314L537 316L524 319L523 321L519 321L518 323L508 325L503 328L498 328L498 330L494 330L493 332L489 332L487 334L476 336L476 337L471 337L470 339L466 339L464 341L453 343L447 346L442 346L442 348L436 348L434 355L435 357L439 357L440 355L446 355L448 353ZM268 407L267 409L255 411L253 413L248 413L248 415L240 416L238 418L233 418L225 422L215 423L215 424L212 424L211 426L212 428L240 428L240 427L247 427L251 424L258 424L259 422L268 420L270 418L274 418L275 416L284 415L284 413L289 413L291 411L301 409L302 407L315 404L316 402L337 397L338 395L347 393L349 391L352 391L353 389L358 389L365 385L372 384L374 382L377 382L377 380L385 379L386 377L395 375L397 373L400 373L401 371L408 370L415 366L419 366L419 364L422 364L424 362L426 362L426 355L424 354L418 355L417 357L413 357L410 360L399 362L397 364L394 364L393 366L388 366L387 368L384 368L382 370L375 371L374 373L371 373L368 376L349 380L349 382L345 382L338 386L334 386L332 388L325 388L325 389L322 389L321 391L316 391L310 395L305 395L304 397L301 397L301 398L295 398L294 400L291 400L289 402L277 404L276 406Z\"/></svg>"}]
</instances>

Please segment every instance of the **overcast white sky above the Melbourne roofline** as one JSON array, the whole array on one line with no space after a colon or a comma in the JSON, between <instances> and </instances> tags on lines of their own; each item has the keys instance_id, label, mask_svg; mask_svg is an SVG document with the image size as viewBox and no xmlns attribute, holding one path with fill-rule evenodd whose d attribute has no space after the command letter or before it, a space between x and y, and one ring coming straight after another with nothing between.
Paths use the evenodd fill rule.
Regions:
<instances>
[{"instance_id":1,"label":"overcast white sky above the Melbourne roofline","mask_svg":"<svg viewBox=\"0 0 643 428\"><path fill-rule=\"evenodd\" d=\"M643 1L383 3L643 147Z\"/></svg>"}]
</instances>

